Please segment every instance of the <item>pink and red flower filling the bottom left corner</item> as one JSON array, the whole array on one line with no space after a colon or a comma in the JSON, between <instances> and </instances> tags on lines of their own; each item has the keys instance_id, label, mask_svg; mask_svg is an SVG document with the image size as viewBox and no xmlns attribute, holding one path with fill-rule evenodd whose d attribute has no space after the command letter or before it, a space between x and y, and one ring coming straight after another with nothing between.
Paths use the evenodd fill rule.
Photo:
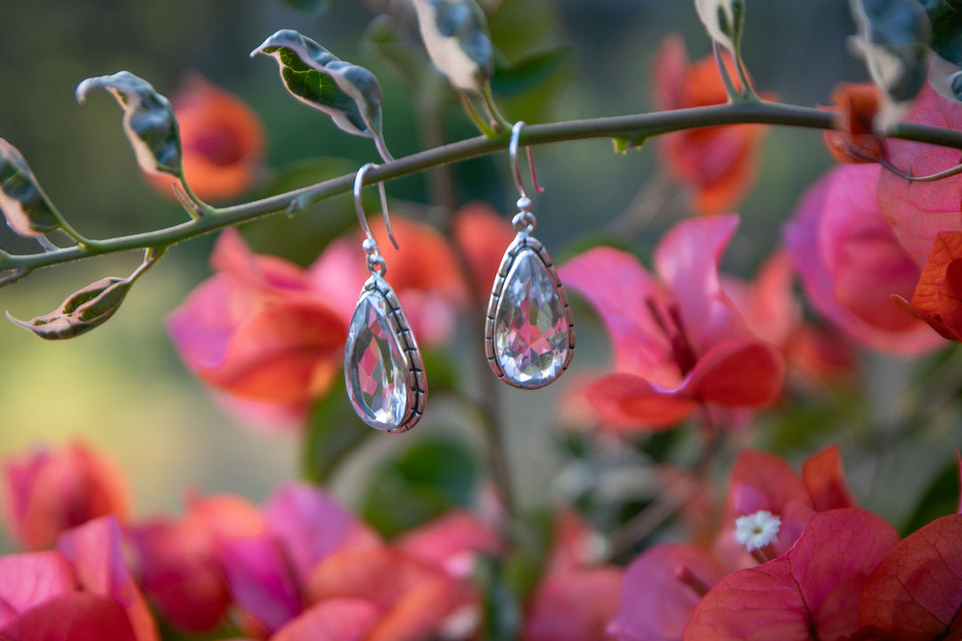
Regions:
<instances>
[{"instance_id":1,"label":"pink and red flower filling the bottom left corner","mask_svg":"<svg viewBox=\"0 0 962 641\"><path fill-rule=\"evenodd\" d=\"M158 641L113 516L64 531L56 550L0 558L0 638Z\"/></svg>"}]
</instances>

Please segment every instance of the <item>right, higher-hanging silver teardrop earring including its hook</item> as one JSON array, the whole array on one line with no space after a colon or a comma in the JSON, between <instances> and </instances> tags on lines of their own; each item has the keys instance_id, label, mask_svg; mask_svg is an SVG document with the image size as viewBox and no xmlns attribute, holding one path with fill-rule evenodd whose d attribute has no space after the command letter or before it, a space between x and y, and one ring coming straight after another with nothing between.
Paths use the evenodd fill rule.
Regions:
<instances>
[{"instance_id":1,"label":"right, higher-hanging silver teardrop earring including its hook","mask_svg":"<svg viewBox=\"0 0 962 641\"><path fill-rule=\"evenodd\" d=\"M509 385L537 389L560 377L574 356L574 316L565 287L544 245L532 234L537 220L524 190L518 162L523 122L511 130L508 152L518 184L519 212L512 220L518 233L501 259L485 321L485 354L494 374ZM531 147L531 182L537 191Z\"/></svg>"}]
</instances>

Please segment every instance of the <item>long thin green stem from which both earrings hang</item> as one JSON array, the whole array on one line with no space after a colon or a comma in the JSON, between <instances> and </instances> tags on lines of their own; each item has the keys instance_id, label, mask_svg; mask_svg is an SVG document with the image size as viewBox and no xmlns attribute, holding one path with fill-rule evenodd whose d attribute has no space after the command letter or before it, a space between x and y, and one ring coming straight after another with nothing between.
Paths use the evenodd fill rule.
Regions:
<instances>
[{"instance_id":1,"label":"long thin green stem from which both earrings hang","mask_svg":"<svg viewBox=\"0 0 962 641\"><path fill-rule=\"evenodd\" d=\"M687 110L657 111L591 120L572 120L525 127L521 145L546 144L589 138L650 137L698 127L734 124L783 125L810 129L834 129L835 113L770 102L713 105ZM962 132L912 123L899 123L890 137L915 140L962 149ZM506 136L483 136L461 140L387 162L367 172L368 184L389 181L424 171L447 162L456 162L504 151ZM28 255L0 254L0 271L27 269L72 262L101 254L114 254L148 247L166 247L203 234L245 223L269 214L283 213L297 199L307 208L332 196L350 192L354 174L350 173L317 185L270 196L252 203L212 209L209 215L179 225L144 234L131 234L92 242L88 249L69 247L56 252Z\"/></svg>"}]
</instances>

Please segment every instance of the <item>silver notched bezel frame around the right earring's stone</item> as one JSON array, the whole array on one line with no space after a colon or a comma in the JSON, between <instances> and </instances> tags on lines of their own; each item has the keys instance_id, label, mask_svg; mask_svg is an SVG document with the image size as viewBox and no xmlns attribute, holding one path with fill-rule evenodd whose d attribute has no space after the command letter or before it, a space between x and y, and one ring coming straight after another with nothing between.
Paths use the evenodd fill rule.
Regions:
<instances>
[{"instance_id":1,"label":"silver notched bezel frame around the right earring's stone","mask_svg":"<svg viewBox=\"0 0 962 641\"><path fill-rule=\"evenodd\" d=\"M538 259L542 261L542 264L544 264L544 269L551 279L551 284L554 285L555 292L561 300L565 320L568 322L568 355L565 357L561 371L550 381L539 384L519 382L509 378L498 362L497 354L494 350L494 314L497 312L497 305L501 300L501 291L504 288L504 282L508 278L508 274L511 273L511 268L514 266L515 260L518 259L521 252L526 250L533 251L538 256ZM554 269L554 262L551 261L551 257L548 255L547 250L544 249L544 245L540 240L526 232L519 232L519 234L515 236L515 239L511 241L511 244L508 245L508 249L501 259L501 266L497 270L497 276L494 277L494 286L491 290L491 298L488 301L488 314L484 324L484 349L485 357L488 358L488 364L491 365L494 375L512 387L518 387L519 389L539 389L540 387L557 381L568 369L568 366L571 364L571 358L574 357L574 314L571 312L571 306L568 303L568 294L565 293L565 285L563 285L561 279L558 278L558 273Z\"/></svg>"}]
</instances>

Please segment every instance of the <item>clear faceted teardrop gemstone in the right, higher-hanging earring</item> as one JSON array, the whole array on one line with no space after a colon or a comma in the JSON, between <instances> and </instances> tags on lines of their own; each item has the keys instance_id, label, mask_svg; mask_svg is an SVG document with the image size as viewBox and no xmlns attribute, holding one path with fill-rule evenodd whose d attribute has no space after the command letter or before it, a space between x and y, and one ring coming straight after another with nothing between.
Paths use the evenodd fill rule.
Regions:
<instances>
[{"instance_id":1,"label":"clear faceted teardrop gemstone in the right, higher-hanging earring","mask_svg":"<svg viewBox=\"0 0 962 641\"><path fill-rule=\"evenodd\" d=\"M504 279L494 312L494 355L519 387L543 387L565 369L570 326L561 293L544 261L521 250Z\"/></svg>"}]
</instances>

